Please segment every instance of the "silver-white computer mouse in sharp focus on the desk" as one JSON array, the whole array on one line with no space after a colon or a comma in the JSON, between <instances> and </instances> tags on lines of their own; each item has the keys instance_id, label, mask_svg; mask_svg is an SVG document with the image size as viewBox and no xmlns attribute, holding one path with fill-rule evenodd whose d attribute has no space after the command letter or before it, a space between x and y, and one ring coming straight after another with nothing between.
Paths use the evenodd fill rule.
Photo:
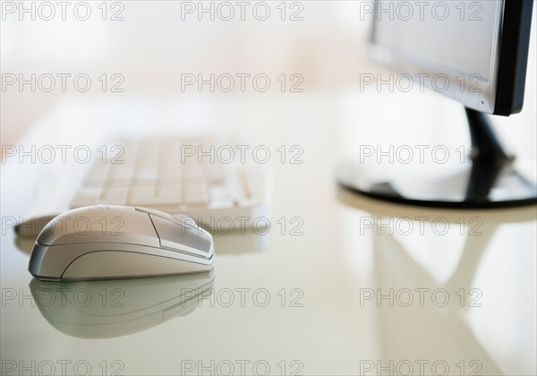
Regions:
<instances>
[{"instance_id":1,"label":"silver-white computer mouse in sharp focus on the desk","mask_svg":"<svg viewBox=\"0 0 537 376\"><path fill-rule=\"evenodd\" d=\"M212 236L192 218L98 205L65 212L39 233L29 270L41 280L120 279L208 271Z\"/></svg>"}]
</instances>

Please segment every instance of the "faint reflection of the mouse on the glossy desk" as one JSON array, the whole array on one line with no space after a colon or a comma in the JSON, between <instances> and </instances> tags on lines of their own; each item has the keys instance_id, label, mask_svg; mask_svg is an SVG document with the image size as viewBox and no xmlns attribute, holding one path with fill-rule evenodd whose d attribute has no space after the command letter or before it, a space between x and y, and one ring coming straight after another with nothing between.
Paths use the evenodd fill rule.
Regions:
<instances>
[{"instance_id":1,"label":"faint reflection of the mouse on the glossy desk","mask_svg":"<svg viewBox=\"0 0 537 376\"><path fill-rule=\"evenodd\" d=\"M85 282L30 281L39 312L75 338L115 338L185 316L212 294L214 269L175 277Z\"/></svg>"}]
</instances>

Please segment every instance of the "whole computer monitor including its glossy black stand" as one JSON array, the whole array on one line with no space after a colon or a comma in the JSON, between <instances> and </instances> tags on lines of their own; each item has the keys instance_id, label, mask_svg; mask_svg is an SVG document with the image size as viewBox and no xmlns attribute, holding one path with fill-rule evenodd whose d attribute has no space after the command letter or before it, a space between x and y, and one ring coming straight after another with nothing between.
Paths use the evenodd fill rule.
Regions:
<instances>
[{"instance_id":1,"label":"whole computer monitor including its glossy black stand","mask_svg":"<svg viewBox=\"0 0 537 376\"><path fill-rule=\"evenodd\" d=\"M425 206L490 208L537 202L534 182L516 171L515 158L504 151L486 115L522 110L533 1L377 0L370 5L371 56L465 106L473 146L471 171L465 192L442 189L437 194L430 187L441 183L428 182L423 190L408 193L398 189L405 182L393 177L382 180L376 174L368 180L367 172L353 162L338 168L339 184L379 199Z\"/></svg>"}]
</instances>

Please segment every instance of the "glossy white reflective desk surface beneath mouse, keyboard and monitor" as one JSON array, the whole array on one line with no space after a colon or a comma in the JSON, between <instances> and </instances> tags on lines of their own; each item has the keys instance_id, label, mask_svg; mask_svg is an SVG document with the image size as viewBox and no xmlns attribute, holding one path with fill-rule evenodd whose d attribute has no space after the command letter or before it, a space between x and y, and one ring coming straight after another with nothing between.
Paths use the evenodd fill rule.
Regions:
<instances>
[{"instance_id":1,"label":"glossy white reflective desk surface beneath mouse, keyboard and monitor","mask_svg":"<svg viewBox=\"0 0 537 376\"><path fill-rule=\"evenodd\" d=\"M271 228L236 252L232 237L216 235L214 273L206 279L68 287L34 281L38 304L30 292L28 244L15 244L5 220L30 216L43 194L56 200L50 187L68 186L81 173L76 166L8 160L2 166L3 374L237 375L267 367L269 374L535 374L534 207L417 209L337 190L337 160L357 145L454 145L460 134L466 137L464 124L458 131L440 128L446 118L463 119L459 113L442 116L435 130L425 124L455 105L418 97L441 106L426 106L412 121L398 113L400 98L353 92L81 96L58 103L24 145L95 146L110 131L211 129L267 145ZM386 132L390 122L400 127ZM375 139L379 133L383 139ZM282 164L282 145L303 148L303 163ZM401 218L422 217L428 218L422 227L414 221L403 234ZM436 218L448 223L445 234L442 223L431 226ZM369 226L371 220L385 226ZM302 235L290 235L297 224ZM204 286L204 299L178 303L182 291L197 286ZM50 303L53 291L67 288L63 308ZM109 338L76 337L83 333Z\"/></svg>"}]
</instances>

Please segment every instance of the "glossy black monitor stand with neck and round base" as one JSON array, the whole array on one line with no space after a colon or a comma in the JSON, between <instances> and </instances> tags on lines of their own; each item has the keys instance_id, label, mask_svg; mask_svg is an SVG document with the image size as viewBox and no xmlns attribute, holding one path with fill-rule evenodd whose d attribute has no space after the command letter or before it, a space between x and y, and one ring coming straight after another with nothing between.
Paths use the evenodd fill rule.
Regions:
<instances>
[{"instance_id":1,"label":"glossy black monitor stand with neck and round base","mask_svg":"<svg viewBox=\"0 0 537 376\"><path fill-rule=\"evenodd\" d=\"M466 116L473 155L467 166L470 171L465 190L454 186L450 192L448 178L429 177L423 171L386 179L369 178L367 168L357 161L337 168L338 184L380 200L429 207L478 209L537 203L535 182L516 170L515 158L502 148L487 115L466 108ZM382 168L382 165L375 168ZM412 189L405 189L409 185Z\"/></svg>"}]
</instances>

